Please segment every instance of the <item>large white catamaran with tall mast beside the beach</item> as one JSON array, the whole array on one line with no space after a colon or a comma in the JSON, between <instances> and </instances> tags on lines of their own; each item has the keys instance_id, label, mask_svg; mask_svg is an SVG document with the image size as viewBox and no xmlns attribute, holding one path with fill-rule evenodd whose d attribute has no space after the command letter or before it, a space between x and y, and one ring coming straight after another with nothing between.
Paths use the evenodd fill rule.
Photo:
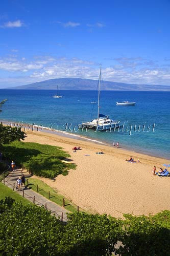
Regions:
<instances>
[{"instance_id":1,"label":"large white catamaran with tall mast beside the beach","mask_svg":"<svg viewBox=\"0 0 170 256\"><path fill-rule=\"evenodd\" d=\"M101 90L101 65L99 75L99 91L98 91L98 117L90 122L82 123L80 126L87 127L89 129L95 129L96 131L104 131L111 129L117 124L114 119L110 119L108 116L100 114L100 90Z\"/></svg>"}]
</instances>

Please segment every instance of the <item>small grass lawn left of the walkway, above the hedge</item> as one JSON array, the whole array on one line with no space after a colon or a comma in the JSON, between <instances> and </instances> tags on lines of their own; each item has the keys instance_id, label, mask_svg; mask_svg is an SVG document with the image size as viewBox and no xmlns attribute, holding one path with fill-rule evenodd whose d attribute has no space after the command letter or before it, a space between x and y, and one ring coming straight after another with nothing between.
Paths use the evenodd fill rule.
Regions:
<instances>
[{"instance_id":1,"label":"small grass lawn left of the walkway, above the hedge","mask_svg":"<svg viewBox=\"0 0 170 256\"><path fill-rule=\"evenodd\" d=\"M33 203L30 202L28 199L20 196L15 191L13 191L11 188L9 188L8 186L6 186L2 182L0 182L0 200L5 199L5 197L11 197L16 202L22 202L24 205L28 205L28 204L33 205Z\"/></svg>"}]
</instances>

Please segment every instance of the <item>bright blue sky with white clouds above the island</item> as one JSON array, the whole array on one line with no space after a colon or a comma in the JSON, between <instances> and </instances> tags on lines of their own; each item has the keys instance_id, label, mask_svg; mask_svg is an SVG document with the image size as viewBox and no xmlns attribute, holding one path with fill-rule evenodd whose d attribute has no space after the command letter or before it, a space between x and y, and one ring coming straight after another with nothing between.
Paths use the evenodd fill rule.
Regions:
<instances>
[{"instance_id":1,"label":"bright blue sky with white clouds above the island","mask_svg":"<svg viewBox=\"0 0 170 256\"><path fill-rule=\"evenodd\" d=\"M170 86L170 0L1 0L0 88L62 77Z\"/></svg>"}]
</instances>

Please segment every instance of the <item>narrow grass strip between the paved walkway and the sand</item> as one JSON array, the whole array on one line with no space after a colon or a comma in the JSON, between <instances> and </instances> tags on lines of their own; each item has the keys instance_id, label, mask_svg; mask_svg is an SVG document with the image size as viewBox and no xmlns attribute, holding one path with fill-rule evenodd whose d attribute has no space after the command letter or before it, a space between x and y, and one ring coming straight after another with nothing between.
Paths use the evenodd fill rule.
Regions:
<instances>
[{"instance_id":1,"label":"narrow grass strip between the paved walkway and the sand","mask_svg":"<svg viewBox=\"0 0 170 256\"><path fill-rule=\"evenodd\" d=\"M43 197L46 197L49 199L49 191L50 191L50 199L51 201L55 202L56 204L62 206L63 205L63 196L58 194L52 187L45 184L43 181L38 179L29 178L29 185L31 189L42 195ZM27 185L27 182L26 182ZM37 185L38 185L38 191L37 191ZM65 209L75 212L77 211L77 206L75 204L72 204L68 199L65 199ZM81 209L80 209L81 210Z\"/></svg>"}]
</instances>

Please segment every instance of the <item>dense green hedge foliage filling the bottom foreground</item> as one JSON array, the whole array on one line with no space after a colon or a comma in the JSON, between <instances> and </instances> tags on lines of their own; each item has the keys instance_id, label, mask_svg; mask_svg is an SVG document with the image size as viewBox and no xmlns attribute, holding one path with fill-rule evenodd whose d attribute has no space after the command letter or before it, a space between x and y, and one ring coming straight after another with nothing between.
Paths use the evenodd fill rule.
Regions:
<instances>
[{"instance_id":1,"label":"dense green hedge foliage filling the bottom foreground","mask_svg":"<svg viewBox=\"0 0 170 256\"><path fill-rule=\"evenodd\" d=\"M169 255L169 211L125 220L76 212L62 225L43 207L10 198L0 202L0 210L0 255Z\"/></svg>"}]
</instances>

